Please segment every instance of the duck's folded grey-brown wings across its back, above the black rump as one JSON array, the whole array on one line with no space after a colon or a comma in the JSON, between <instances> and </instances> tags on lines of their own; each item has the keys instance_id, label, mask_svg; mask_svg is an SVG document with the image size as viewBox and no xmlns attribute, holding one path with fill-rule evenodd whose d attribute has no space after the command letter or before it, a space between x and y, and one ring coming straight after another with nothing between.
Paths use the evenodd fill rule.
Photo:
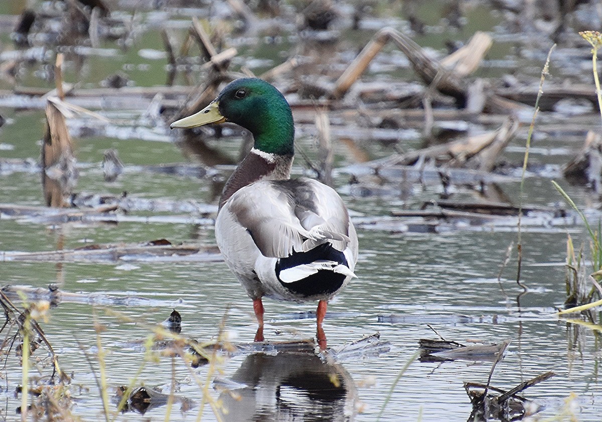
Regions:
<instances>
[{"instance_id":1,"label":"duck's folded grey-brown wings across its back, above the black rump","mask_svg":"<svg viewBox=\"0 0 602 422\"><path fill-rule=\"evenodd\" d=\"M349 214L334 189L312 179L262 181L239 189L221 212L229 212L265 257L284 258L330 242L343 251Z\"/></svg>"}]
</instances>

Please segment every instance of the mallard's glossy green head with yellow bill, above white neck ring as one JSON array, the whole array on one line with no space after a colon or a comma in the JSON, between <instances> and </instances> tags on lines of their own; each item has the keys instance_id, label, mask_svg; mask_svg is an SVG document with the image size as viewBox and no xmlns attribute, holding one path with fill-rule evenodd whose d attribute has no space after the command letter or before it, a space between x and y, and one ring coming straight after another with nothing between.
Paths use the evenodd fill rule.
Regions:
<instances>
[{"instance_id":1,"label":"mallard's glossy green head with yellow bill, above white neck ring","mask_svg":"<svg viewBox=\"0 0 602 422\"><path fill-rule=\"evenodd\" d=\"M256 149L278 155L293 155L293 114L280 91L257 78L230 82L217 98L201 111L172 123L174 127L196 127L230 121L249 130Z\"/></svg>"}]
</instances>

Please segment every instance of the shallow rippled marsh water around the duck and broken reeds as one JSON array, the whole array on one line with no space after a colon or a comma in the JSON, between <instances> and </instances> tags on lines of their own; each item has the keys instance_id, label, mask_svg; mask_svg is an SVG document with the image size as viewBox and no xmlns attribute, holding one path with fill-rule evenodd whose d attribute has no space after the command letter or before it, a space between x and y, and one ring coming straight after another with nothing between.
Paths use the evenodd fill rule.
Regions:
<instances>
[{"instance_id":1,"label":"shallow rippled marsh water around the duck and broken reeds","mask_svg":"<svg viewBox=\"0 0 602 422\"><path fill-rule=\"evenodd\" d=\"M486 14L486 17L482 22L486 29L500 20L495 14ZM147 19L150 21L155 18L149 14ZM436 25L436 22L431 24ZM474 19L469 22L471 25L465 31L472 33ZM176 23L170 26L187 27ZM364 35L371 33L364 31L359 37L362 40L353 41L361 46L365 42ZM2 34L3 40L6 35ZM463 38L462 34L455 36ZM503 39L503 34L498 34L498 37ZM128 52L114 52L114 58L99 57L92 52L93 56L83 70L85 81L94 87L109 73L125 69L137 85L163 84L164 58L150 54L148 50L160 45L157 40L157 32L149 30L138 38L135 47ZM417 41L426 45L429 40L433 48L441 47L440 39L433 34ZM491 67L495 67L495 60L509 54L511 42L502 41L492 50ZM263 59L267 55L260 48L245 50L244 45L241 41L243 57ZM280 48L288 47L287 41ZM142 52L138 53L138 50ZM278 60L278 57L276 55L271 59ZM513 59L522 60L518 57ZM531 76L535 75L533 77L536 80L539 79L538 72L542 64L539 59L531 63ZM383 61L386 60L383 58ZM102 67L99 67L100 63ZM271 66L265 65L265 68ZM258 69L261 70L260 67ZM378 69L373 70L374 73L367 78L401 76L396 72L380 74ZM485 69L481 72L492 72L487 66ZM406 70L401 74L407 75ZM28 78L26 81L34 85L44 85L32 75ZM42 112L19 112L12 108L3 108L0 112L10 119L0 129L0 145L8 145L0 149L0 157L31 157L37 160L39 145L36 142L42 136ZM128 115L137 118L140 112L132 111ZM107 111L107 114L110 113ZM541 118L550 124L554 122L554 114L551 113L542 113ZM167 129L163 132L161 128L153 129L163 136L162 139L174 136ZM483 127L471 126L471 129L482 130ZM504 155L512 163L522 160L524 133L524 129L519 132ZM552 176L530 174L525 186L526 202L540 206L562 204L549 179L561 180L559 165L565 163L568 154L580 146L583 133L568 138L560 129L554 131L546 130L545 126L538 127L535 134L536 149L532 151L530 162L534 165L550 165ZM418 139L414 139L408 145L418 143ZM192 198L200 203L211 201L212 186L208 179L139 171L126 172L114 183L102 179L100 162L105 149L117 148L126 166L184 162L180 150L172 143L98 137L78 139L77 144L78 161L93 164L80 170L76 188L78 192L119 195L127 191L134 197L166 200ZM313 151L311 138L303 136L299 144ZM232 157L237 156L238 141L229 140L222 145ZM344 146L337 145L336 148L337 164L351 164L344 153ZM393 149L375 142L369 145L368 150L378 157L391 153ZM297 159L297 174L304 171L302 165L302 160ZM347 174L339 174L337 186L345 185L348 180ZM37 173L3 174L0 176L0 186L2 203L43 204L40 176ZM515 203L518 202L518 182L500 186ZM592 203L597 204L597 199L592 198L589 192L565 187L579 204L589 207L592 207ZM458 189L458 197L464 195L470 198L474 193L470 189L455 189ZM439 194L440 186L415 185L411 186L409 192L399 191L393 196L345 195L344 200L359 222L361 216L388 216L391 210L418 209L423 201L437 199ZM562 206L565 207L564 204ZM152 215L144 212L132 214ZM404 223L406 220L401 218L399 221ZM214 383L209 393L216 399L223 399L223 406L229 409L229 414L223 415L223 420L374 421L382 411L385 397L393 388L398 373L416 352L418 340L437 338L429 325L445 339L459 343L475 340L501 343L511 340L506 356L495 368L492 385L509 389L540 373L553 370L557 373L554 378L524 393L529 399L545 406L541 417L563 412L565 400L575 393L577 397L571 409L577 413L579 420L599 420L602 410L597 373L600 347L595 331L559 320L554 313L555 307L562 306L565 300L563 263L566 258L566 232L570 231L576 245L579 245L587 241L583 228L574 223L553 227L545 222L524 228L521 235L521 279L528 286L528 291L520 296L519 308L517 297L523 289L515 282L515 252L498 281L506 249L517 241L515 225L503 228L473 227L468 230L470 223L467 222L465 227L467 230L462 230L460 225L436 233L373 230L369 225L358 227L358 280L354 280L330 303L324 329L330 347L341 347L378 332L380 340L390 343L390 350L379 356L342 359L328 366L309 356L241 354L221 361L219 372L211 373L208 377L208 367L200 367L191 373L179 359L173 359L173 364L172 359L165 357L144 363L144 347L132 344L132 341L147 338L152 326L166 319L172 309L181 313L182 334L186 337L199 341L210 340L219 334L223 324L232 341L252 341L256 329L252 304L221 261L159 261L138 257L116 263L1 262L0 281L2 284L33 287L57 284L65 292L143 299L130 305L108 306L63 302L52 308L48 321L42 323L46 336L60 356L61 367L72 375L72 410L84 420L102 417L102 403L93 376L93 372L98 373L95 321L104 326L101 341L108 352L105 361L110 394L119 385L127 385L138 371L140 373L135 385L161 387L164 393L169 393L172 380L175 379L176 395L184 400L184 404L176 402L170 411L170 420L174 421L192 420L199 414L202 393L195 378L203 382L208 378L210 383ZM0 218L1 251L52 251L92 243L142 243L162 238L173 243L213 246L213 236L211 225L144 222L50 225ZM269 299L264 304L267 319L265 337L268 341L313 337L315 320L298 316L299 313L315 310L315 304ZM595 330L599 330L599 327ZM89 356L92 363L87 361L85 355ZM7 382L0 391L6 403L6 420L15 417L15 409L20 405L20 399L14 397L14 386L20 383L20 368L15 362L11 365L11 358L14 356L8 358L10 370ZM466 420L472 406L463 383L486 382L490 370L491 362L414 361L394 386L381 420ZM46 374L48 368L40 371ZM333 379L337 381L333 383ZM231 393L223 393L223 387ZM164 420L166 412L166 406L162 406L144 416L132 412L121 414L117 420L158 421ZM216 420L207 406L202 418Z\"/></svg>"}]
</instances>

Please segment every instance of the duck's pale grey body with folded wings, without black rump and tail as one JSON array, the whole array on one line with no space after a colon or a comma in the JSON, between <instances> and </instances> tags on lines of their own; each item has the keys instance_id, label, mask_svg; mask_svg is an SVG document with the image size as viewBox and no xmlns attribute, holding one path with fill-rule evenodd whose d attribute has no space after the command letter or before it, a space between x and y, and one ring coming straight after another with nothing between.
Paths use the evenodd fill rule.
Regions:
<instances>
[{"instance_id":1,"label":"duck's pale grey body with folded wings, without black rump and tail","mask_svg":"<svg viewBox=\"0 0 602 422\"><path fill-rule=\"evenodd\" d=\"M324 245L320 250L328 249L328 256L344 254L351 272L358 253L343 200L334 189L308 178L264 180L238 189L219 212L216 238L226 263L252 297L279 295L265 284L281 290L276 264L293 252Z\"/></svg>"}]
</instances>

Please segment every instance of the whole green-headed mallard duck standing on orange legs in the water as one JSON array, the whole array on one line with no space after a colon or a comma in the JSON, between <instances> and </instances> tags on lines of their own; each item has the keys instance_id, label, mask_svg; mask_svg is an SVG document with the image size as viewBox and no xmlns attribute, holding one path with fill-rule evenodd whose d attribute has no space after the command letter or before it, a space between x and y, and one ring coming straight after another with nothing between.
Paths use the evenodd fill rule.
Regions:
<instances>
[{"instance_id":1,"label":"whole green-headed mallard duck standing on orange legs in the water","mask_svg":"<svg viewBox=\"0 0 602 422\"><path fill-rule=\"evenodd\" d=\"M275 87L237 79L206 108L171 127L226 121L249 130L255 141L226 182L216 219L217 245L253 299L255 341L264 341L263 296L317 300L317 340L324 349L327 302L356 277L358 237L347 208L329 186L290 179L293 114Z\"/></svg>"}]
</instances>

